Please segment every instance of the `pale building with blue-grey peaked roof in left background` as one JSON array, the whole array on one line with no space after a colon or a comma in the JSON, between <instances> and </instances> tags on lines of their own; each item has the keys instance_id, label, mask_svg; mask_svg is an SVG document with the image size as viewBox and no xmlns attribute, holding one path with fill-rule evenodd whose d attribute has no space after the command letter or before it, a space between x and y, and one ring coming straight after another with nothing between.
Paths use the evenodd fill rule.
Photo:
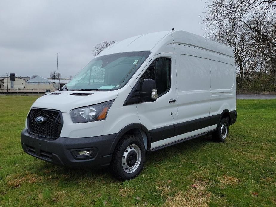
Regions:
<instances>
[{"instance_id":1,"label":"pale building with blue-grey peaked roof in left background","mask_svg":"<svg viewBox=\"0 0 276 207\"><path fill-rule=\"evenodd\" d=\"M49 89L54 90L53 82L43 78L41 76L36 76L28 81L26 81L26 89Z\"/></svg>"}]
</instances>

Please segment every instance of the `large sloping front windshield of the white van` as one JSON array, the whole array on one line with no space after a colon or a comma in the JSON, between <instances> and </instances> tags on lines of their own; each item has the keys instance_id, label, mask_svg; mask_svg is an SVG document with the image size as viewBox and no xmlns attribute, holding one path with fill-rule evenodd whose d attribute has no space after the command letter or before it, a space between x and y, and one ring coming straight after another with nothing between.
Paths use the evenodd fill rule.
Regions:
<instances>
[{"instance_id":1,"label":"large sloping front windshield of the white van","mask_svg":"<svg viewBox=\"0 0 276 207\"><path fill-rule=\"evenodd\" d=\"M150 55L150 51L124 52L94 58L63 90L117 90L123 87Z\"/></svg>"}]
</instances>

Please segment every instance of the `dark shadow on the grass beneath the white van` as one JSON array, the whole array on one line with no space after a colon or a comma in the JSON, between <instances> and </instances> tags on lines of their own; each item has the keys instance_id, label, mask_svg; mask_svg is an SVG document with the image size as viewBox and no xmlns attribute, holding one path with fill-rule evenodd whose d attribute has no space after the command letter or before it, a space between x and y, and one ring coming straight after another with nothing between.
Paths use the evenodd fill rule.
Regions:
<instances>
[{"instance_id":1,"label":"dark shadow on the grass beneath the white van","mask_svg":"<svg viewBox=\"0 0 276 207\"><path fill-rule=\"evenodd\" d=\"M187 140L185 142L166 147L164 149L160 149L155 152L148 152L146 157L147 167L155 166L156 162L158 162L158 164L162 164L161 162L165 162L166 160L175 157L175 155L179 153L188 156L191 151L196 152L200 150L201 147L206 146L206 144L212 142L213 140L210 135L204 135L192 140ZM172 160L172 162L174 161ZM44 176L48 175L50 179L73 181L88 178L96 181L115 181L115 179L112 177L109 167L101 169L93 169L92 167L70 169L63 166L56 166L52 163L41 162L37 166L33 166L33 169L38 174L43 174Z\"/></svg>"}]
</instances>

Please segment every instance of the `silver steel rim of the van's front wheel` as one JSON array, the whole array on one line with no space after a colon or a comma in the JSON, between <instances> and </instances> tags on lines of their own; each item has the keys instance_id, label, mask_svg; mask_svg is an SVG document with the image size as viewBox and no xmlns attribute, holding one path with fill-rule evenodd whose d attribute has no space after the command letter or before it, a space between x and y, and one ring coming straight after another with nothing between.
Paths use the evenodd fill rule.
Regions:
<instances>
[{"instance_id":1,"label":"silver steel rim of the van's front wheel","mask_svg":"<svg viewBox=\"0 0 276 207\"><path fill-rule=\"evenodd\" d=\"M141 149L136 145L132 144L125 149L122 157L122 166L126 173L133 173L138 169L141 163Z\"/></svg>"}]
</instances>

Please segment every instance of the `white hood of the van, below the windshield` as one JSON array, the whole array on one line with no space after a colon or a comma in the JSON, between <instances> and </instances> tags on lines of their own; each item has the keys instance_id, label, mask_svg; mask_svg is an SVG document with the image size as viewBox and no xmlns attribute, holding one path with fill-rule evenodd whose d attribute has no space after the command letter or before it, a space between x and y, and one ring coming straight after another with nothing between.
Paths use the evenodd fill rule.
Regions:
<instances>
[{"instance_id":1,"label":"white hood of the van, below the windshield","mask_svg":"<svg viewBox=\"0 0 276 207\"><path fill-rule=\"evenodd\" d=\"M55 93L60 94L54 95ZM56 91L38 98L35 103L33 103L32 108L36 107L70 112L75 108L113 100L117 96L117 91Z\"/></svg>"}]
</instances>

